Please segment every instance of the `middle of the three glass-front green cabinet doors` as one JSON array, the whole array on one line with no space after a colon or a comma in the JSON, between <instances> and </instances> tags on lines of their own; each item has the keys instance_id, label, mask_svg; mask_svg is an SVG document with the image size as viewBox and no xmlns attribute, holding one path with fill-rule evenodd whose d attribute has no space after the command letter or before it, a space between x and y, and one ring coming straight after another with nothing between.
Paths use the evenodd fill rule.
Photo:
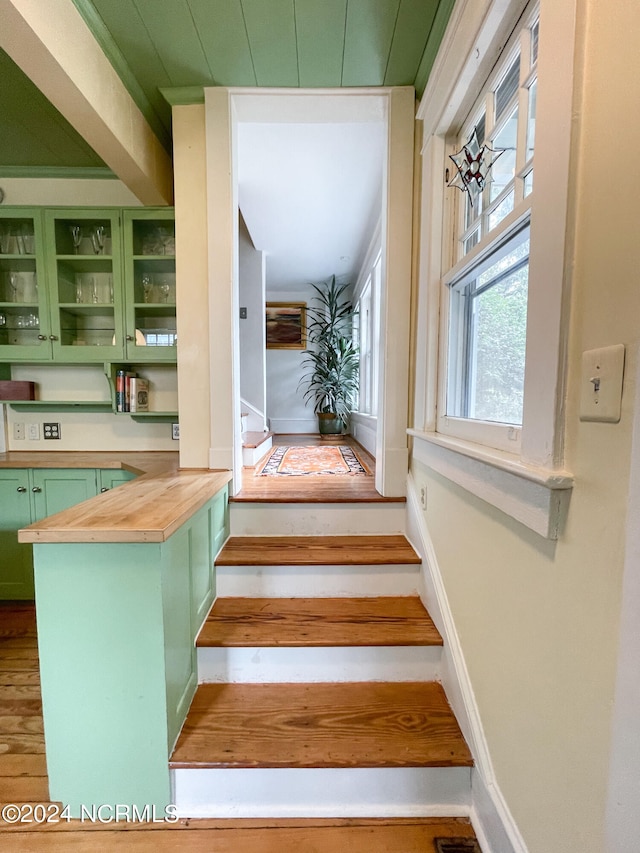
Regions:
<instances>
[{"instance_id":1,"label":"middle of the three glass-front green cabinet doors","mask_svg":"<svg viewBox=\"0 0 640 853\"><path fill-rule=\"evenodd\" d=\"M53 357L123 358L120 212L45 211Z\"/></svg>"}]
</instances>

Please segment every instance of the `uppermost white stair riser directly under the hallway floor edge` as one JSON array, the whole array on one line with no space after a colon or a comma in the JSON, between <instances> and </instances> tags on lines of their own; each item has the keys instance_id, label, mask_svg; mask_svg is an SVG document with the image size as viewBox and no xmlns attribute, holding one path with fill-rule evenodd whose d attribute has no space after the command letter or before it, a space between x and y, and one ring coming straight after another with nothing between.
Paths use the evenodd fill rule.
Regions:
<instances>
[{"instance_id":1,"label":"uppermost white stair riser directly under the hallway floor edge","mask_svg":"<svg viewBox=\"0 0 640 853\"><path fill-rule=\"evenodd\" d=\"M230 504L232 536L346 536L405 532L404 503Z\"/></svg>"}]
</instances>

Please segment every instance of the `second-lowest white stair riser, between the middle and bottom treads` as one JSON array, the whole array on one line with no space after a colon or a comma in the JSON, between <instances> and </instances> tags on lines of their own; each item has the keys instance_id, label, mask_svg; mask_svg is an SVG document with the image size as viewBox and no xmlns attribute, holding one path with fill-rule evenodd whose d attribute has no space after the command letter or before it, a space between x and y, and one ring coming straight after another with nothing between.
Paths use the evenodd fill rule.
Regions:
<instances>
[{"instance_id":1,"label":"second-lowest white stair riser, between the middle and bottom treads","mask_svg":"<svg viewBox=\"0 0 640 853\"><path fill-rule=\"evenodd\" d=\"M440 646L199 648L198 681L439 681Z\"/></svg>"}]
</instances>

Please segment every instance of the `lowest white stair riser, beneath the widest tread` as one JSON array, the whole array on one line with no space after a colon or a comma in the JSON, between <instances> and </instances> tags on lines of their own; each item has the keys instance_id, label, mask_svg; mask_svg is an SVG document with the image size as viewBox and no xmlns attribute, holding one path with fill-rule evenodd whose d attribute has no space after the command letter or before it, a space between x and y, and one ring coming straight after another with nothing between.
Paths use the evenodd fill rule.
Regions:
<instances>
[{"instance_id":1,"label":"lowest white stair riser, beneath the widest tread","mask_svg":"<svg viewBox=\"0 0 640 853\"><path fill-rule=\"evenodd\" d=\"M462 816L471 802L468 767L205 768L171 776L180 817Z\"/></svg>"}]
</instances>

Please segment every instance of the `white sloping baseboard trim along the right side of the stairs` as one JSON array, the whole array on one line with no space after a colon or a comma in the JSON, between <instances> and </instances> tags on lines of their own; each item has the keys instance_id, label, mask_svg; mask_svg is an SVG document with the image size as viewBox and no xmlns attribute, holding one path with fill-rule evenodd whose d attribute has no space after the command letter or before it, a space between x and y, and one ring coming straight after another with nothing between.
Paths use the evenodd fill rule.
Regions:
<instances>
[{"instance_id":1,"label":"white sloping baseboard trim along the right side of the stairs","mask_svg":"<svg viewBox=\"0 0 640 853\"><path fill-rule=\"evenodd\" d=\"M524 839L496 782L464 653L411 474L407 478L407 537L422 558L420 595L444 639L442 686L475 761L469 813L473 828L483 850L527 853Z\"/></svg>"}]
</instances>

